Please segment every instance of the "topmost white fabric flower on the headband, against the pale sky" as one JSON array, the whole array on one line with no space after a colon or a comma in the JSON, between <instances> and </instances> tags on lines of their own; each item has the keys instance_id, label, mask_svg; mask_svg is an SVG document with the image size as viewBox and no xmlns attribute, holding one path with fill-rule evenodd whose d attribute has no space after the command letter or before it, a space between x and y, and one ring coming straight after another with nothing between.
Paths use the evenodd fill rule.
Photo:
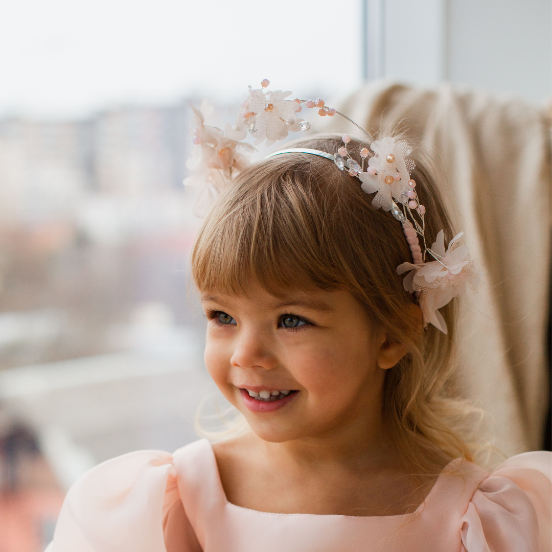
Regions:
<instances>
[{"instance_id":1,"label":"topmost white fabric flower on the headband, against the pale sky","mask_svg":"<svg viewBox=\"0 0 552 552\"><path fill-rule=\"evenodd\" d=\"M274 144L276 140L283 140L289 132L302 129L302 119L298 119L296 112L301 105L294 100L286 100L291 92L251 90L242 103L243 118L251 134L255 137L257 146L266 140L266 145Z\"/></svg>"}]
</instances>

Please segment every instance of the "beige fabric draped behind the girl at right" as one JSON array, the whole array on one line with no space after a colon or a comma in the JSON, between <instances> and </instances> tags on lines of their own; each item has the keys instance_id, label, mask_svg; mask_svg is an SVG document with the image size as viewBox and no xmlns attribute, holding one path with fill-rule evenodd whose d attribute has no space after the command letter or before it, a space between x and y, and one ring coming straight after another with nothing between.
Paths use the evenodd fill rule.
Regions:
<instances>
[{"instance_id":1,"label":"beige fabric draped behind the girl at right","mask_svg":"<svg viewBox=\"0 0 552 552\"><path fill-rule=\"evenodd\" d=\"M462 392L490 413L503 453L539 449L550 386L550 108L375 82L341 110L374 134L405 131L443 172L454 226L487 270L485 288L460 304ZM326 118L332 130L354 132L338 119Z\"/></svg>"}]
</instances>

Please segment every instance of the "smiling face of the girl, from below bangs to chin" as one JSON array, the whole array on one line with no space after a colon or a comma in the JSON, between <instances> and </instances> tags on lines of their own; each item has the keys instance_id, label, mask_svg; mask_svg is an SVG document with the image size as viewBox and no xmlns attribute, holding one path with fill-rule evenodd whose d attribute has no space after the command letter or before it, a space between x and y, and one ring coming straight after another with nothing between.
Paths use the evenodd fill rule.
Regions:
<instances>
[{"instance_id":1,"label":"smiling face of the girl, from below bangs to chin","mask_svg":"<svg viewBox=\"0 0 552 552\"><path fill-rule=\"evenodd\" d=\"M259 437L379 427L385 369L405 349L386 341L348 291L274 296L255 285L246 296L206 293L202 302L205 365Z\"/></svg>"}]
</instances>

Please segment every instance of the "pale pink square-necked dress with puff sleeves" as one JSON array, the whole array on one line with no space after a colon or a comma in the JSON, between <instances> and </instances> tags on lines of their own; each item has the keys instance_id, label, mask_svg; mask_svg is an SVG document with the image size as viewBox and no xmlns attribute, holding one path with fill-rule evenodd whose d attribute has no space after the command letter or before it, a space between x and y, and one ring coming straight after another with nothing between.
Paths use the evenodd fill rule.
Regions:
<instances>
[{"instance_id":1,"label":"pale pink square-necked dress with puff sleeves","mask_svg":"<svg viewBox=\"0 0 552 552\"><path fill-rule=\"evenodd\" d=\"M552 453L491 475L461 459L416 512L275 514L226 500L206 440L99 464L70 491L46 552L550 552Z\"/></svg>"}]
</instances>

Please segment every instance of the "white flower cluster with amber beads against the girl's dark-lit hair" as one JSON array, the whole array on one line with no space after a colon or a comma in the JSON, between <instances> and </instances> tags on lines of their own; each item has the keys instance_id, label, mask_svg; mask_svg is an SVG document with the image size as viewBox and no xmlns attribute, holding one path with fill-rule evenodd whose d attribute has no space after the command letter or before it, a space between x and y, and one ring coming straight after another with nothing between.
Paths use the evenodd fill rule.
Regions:
<instances>
[{"instance_id":1,"label":"white flower cluster with amber beads against the girl's dark-lit hair","mask_svg":"<svg viewBox=\"0 0 552 552\"><path fill-rule=\"evenodd\" d=\"M372 200L375 209L389 211L393 198L399 203L408 201L408 181L415 167L411 159L405 157L412 152L405 140L395 141L391 136L376 140L370 146L374 155L368 160L368 171L359 174L362 189L367 194L377 192Z\"/></svg>"}]
</instances>

